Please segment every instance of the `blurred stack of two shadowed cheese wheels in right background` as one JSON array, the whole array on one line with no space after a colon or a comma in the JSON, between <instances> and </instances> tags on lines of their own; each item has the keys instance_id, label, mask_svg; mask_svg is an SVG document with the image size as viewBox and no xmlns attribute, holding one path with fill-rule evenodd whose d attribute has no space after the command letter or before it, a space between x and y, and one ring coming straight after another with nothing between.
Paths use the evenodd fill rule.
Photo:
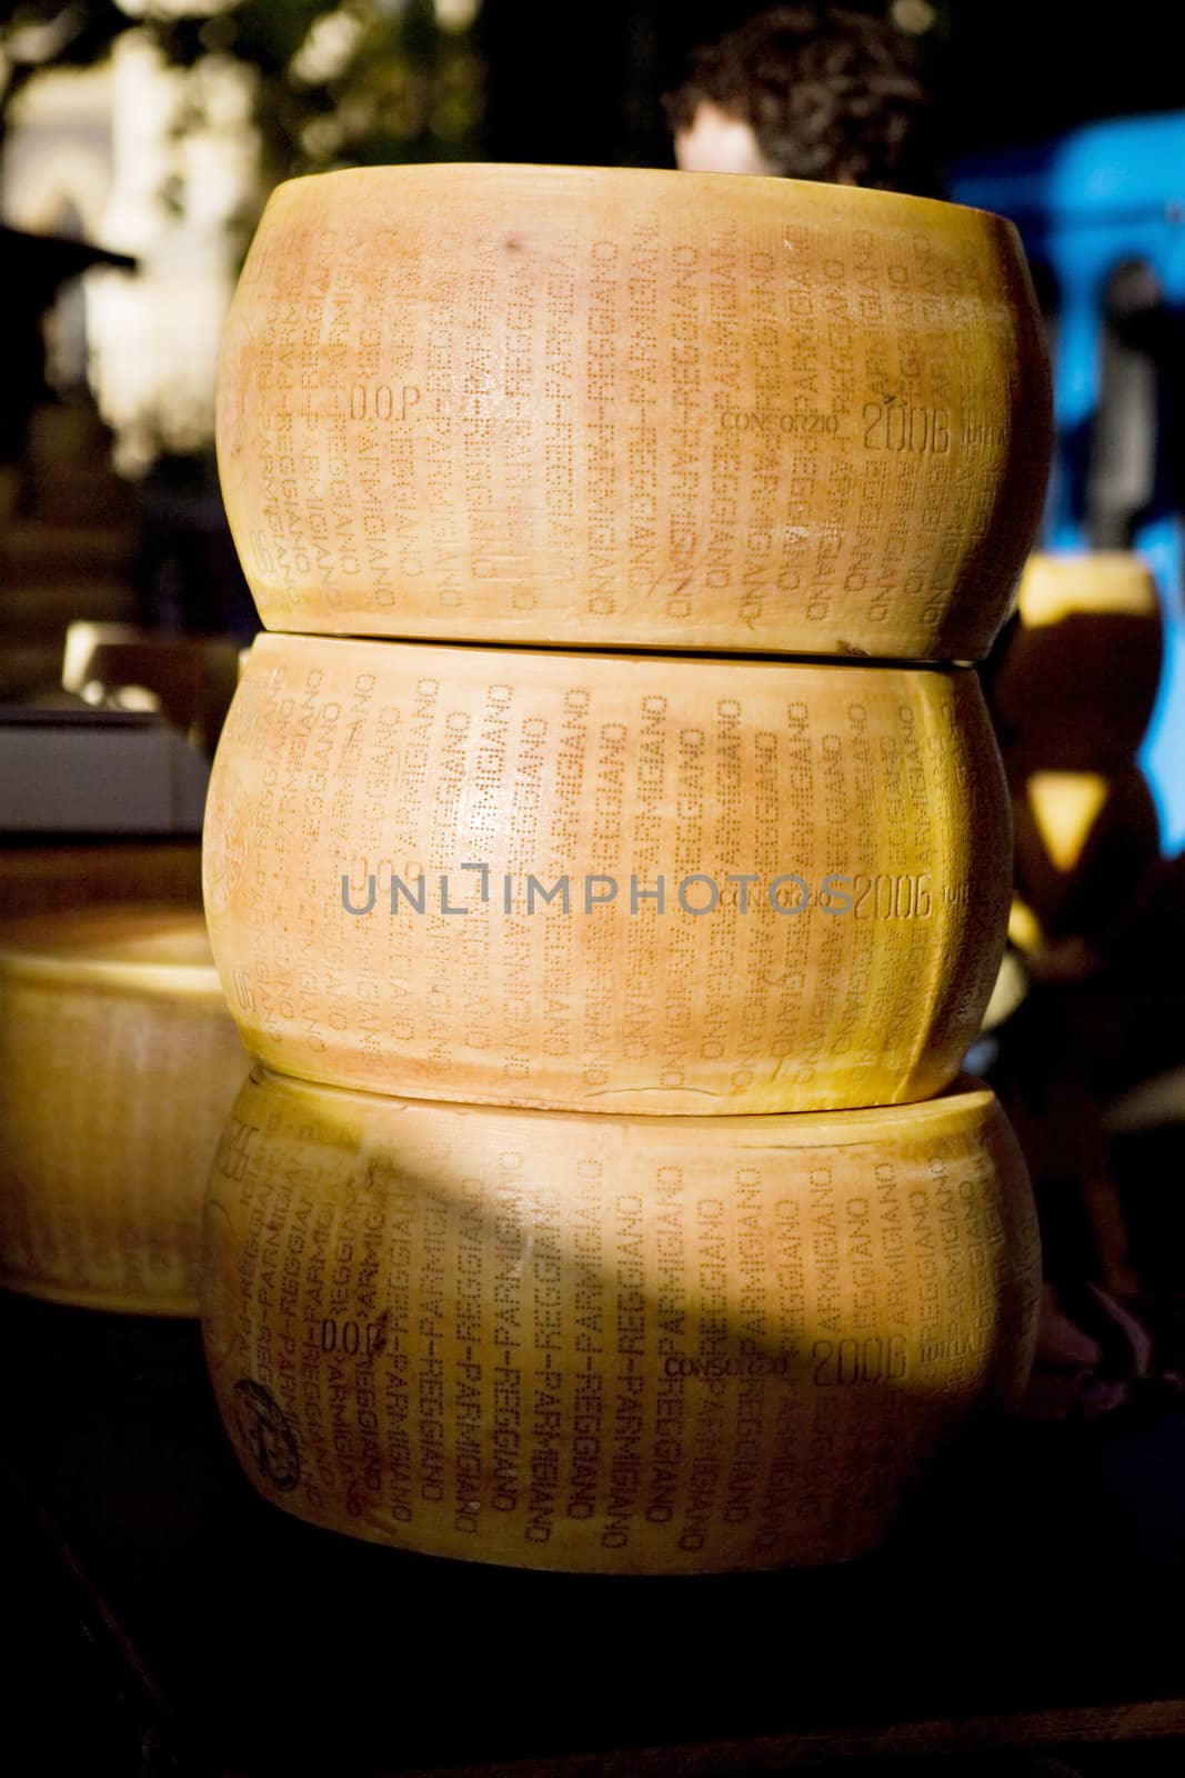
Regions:
<instances>
[{"instance_id":1,"label":"blurred stack of two shadowed cheese wheels in right background","mask_svg":"<svg viewBox=\"0 0 1185 1778\"><path fill-rule=\"evenodd\" d=\"M1016 830L1013 939L1038 973L1091 969L1160 868L1137 750L1162 621L1133 555L1034 555L993 676Z\"/></svg>"}]
</instances>

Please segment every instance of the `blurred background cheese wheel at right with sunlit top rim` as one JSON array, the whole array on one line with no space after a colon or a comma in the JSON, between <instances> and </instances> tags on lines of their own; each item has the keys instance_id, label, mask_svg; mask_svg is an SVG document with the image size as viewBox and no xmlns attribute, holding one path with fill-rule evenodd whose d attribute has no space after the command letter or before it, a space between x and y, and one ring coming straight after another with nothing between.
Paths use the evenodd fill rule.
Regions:
<instances>
[{"instance_id":1,"label":"blurred background cheese wheel at right with sunlit top rim","mask_svg":"<svg viewBox=\"0 0 1185 1778\"><path fill-rule=\"evenodd\" d=\"M1016 773L1123 772L1157 702L1164 649L1157 583L1135 555L1034 555L1018 624L991 676Z\"/></svg>"}]
</instances>

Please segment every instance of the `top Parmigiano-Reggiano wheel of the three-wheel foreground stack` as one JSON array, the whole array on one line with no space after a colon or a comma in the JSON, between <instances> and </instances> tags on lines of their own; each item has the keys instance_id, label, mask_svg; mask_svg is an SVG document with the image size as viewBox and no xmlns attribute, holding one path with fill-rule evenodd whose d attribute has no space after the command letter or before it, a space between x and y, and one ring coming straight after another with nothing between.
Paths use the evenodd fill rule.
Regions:
<instances>
[{"instance_id":1,"label":"top Parmigiano-Reggiano wheel of the three-wheel foreground stack","mask_svg":"<svg viewBox=\"0 0 1185 1778\"><path fill-rule=\"evenodd\" d=\"M1011 224L792 180L293 180L220 366L272 629L979 660L1048 448Z\"/></svg>"}]
</instances>

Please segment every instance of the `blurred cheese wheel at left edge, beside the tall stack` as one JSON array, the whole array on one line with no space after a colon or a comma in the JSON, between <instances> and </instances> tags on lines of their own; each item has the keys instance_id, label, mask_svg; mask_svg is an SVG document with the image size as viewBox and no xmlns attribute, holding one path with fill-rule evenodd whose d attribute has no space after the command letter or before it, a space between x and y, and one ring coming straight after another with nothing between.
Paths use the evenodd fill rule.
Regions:
<instances>
[{"instance_id":1,"label":"blurred cheese wheel at left edge, beside the tall stack","mask_svg":"<svg viewBox=\"0 0 1185 1778\"><path fill-rule=\"evenodd\" d=\"M203 1193L242 1076L201 910L0 925L0 1284L197 1314Z\"/></svg>"}]
</instances>

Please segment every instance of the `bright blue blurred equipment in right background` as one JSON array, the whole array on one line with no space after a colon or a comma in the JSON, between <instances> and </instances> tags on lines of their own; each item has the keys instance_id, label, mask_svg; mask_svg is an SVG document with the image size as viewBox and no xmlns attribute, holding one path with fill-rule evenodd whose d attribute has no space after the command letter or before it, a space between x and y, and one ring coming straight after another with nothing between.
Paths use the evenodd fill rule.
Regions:
<instances>
[{"instance_id":1,"label":"bright blue blurred equipment in right background","mask_svg":"<svg viewBox=\"0 0 1185 1778\"><path fill-rule=\"evenodd\" d=\"M1164 674L1141 766L1157 798L1162 848L1176 853L1185 848L1185 112L1091 124L1039 148L965 160L949 194L1011 217L1034 272L1054 284L1057 443L1043 549L1093 544L1091 441L1116 272L1137 263L1158 286L1165 352L1155 368L1155 459L1121 548L1144 557L1164 608Z\"/></svg>"}]
</instances>

